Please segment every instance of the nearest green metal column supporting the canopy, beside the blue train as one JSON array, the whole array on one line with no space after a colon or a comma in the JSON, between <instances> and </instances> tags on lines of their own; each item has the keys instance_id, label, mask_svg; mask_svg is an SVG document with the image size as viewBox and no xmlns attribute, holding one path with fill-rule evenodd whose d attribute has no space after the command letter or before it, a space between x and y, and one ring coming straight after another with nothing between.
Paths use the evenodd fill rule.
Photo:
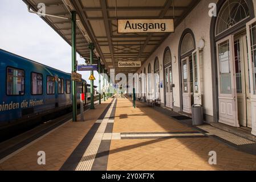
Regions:
<instances>
[{"instance_id":1,"label":"nearest green metal column supporting the canopy, beside the blue train","mask_svg":"<svg viewBox=\"0 0 256 182\"><path fill-rule=\"evenodd\" d=\"M76 12L72 11L72 72L76 72ZM73 122L77 121L76 81L72 81Z\"/></svg>"}]
</instances>

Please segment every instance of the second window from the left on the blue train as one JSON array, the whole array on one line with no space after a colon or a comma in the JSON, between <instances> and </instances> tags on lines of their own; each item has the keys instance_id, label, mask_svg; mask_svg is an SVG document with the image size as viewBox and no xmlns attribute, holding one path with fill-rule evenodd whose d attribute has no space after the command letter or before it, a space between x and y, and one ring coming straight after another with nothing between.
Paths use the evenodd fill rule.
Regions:
<instances>
[{"instance_id":1,"label":"second window from the left on the blue train","mask_svg":"<svg viewBox=\"0 0 256 182\"><path fill-rule=\"evenodd\" d=\"M40 73L31 73L31 94L43 94L43 75Z\"/></svg>"}]
</instances>

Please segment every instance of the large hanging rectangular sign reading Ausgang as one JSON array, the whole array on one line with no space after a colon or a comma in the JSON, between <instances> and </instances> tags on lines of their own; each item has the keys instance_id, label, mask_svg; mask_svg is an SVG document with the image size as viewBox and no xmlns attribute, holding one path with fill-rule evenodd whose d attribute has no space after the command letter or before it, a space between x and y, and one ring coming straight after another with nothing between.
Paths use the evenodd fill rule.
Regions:
<instances>
[{"instance_id":1,"label":"large hanging rectangular sign reading Ausgang","mask_svg":"<svg viewBox=\"0 0 256 182\"><path fill-rule=\"evenodd\" d=\"M173 19L119 19L117 25L119 34L174 32Z\"/></svg>"}]
</instances>

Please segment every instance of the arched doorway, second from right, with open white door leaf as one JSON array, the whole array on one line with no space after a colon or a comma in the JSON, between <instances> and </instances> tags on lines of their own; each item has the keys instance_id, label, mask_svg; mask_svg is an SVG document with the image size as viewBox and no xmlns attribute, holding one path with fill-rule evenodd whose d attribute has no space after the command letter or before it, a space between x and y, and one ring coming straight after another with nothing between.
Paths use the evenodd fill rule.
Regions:
<instances>
[{"instance_id":1,"label":"arched doorway, second from right, with open white door leaf","mask_svg":"<svg viewBox=\"0 0 256 182\"><path fill-rule=\"evenodd\" d=\"M180 57L180 86L181 86L181 109L184 113L192 113L192 105L194 104L194 92L198 90L198 80L194 79L194 75L198 75L197 63L198 51L196 50L196 42L194 34L189 28L184 30L179 46ZM196 86L195 86L196 85ZM195 90L196 89L196 90Z\"/></svg>"}]
</instances>

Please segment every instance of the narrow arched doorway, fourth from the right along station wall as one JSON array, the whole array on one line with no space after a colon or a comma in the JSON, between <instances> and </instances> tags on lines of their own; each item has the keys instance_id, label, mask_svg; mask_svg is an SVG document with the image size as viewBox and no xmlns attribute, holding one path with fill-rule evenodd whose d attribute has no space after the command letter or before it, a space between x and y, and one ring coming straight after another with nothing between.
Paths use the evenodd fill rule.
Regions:
<instances>
[{"instance_id":1,"label":"narrow arched doorway, fourth from the right along station wall","mask_svg":"<svg viewBox=\"0 0 256 182\"><path fill-rule=\"evenodd\" d=\"M157 102L157 104L161 104L160 101L160 69L159 69L159 59L156 57L155 63L154 63L154 80L155 80L155 98L154 100Z\"/></svg>"}]
</instances>

